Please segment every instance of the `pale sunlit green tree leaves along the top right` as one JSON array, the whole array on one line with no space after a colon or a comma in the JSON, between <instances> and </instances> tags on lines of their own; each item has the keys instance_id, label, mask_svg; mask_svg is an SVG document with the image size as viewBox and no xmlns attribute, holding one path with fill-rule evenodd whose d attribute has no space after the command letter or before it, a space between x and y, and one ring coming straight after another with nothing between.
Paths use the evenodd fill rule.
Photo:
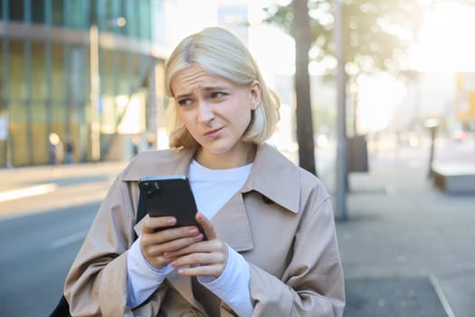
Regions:
<instances>
[{"instance_id":1,"label":"pale sunlit green tree leaves along the top right","mask_svg":"<svg viewBox=\"0 0 475 317\"><path fill-rule=\"evenodd\" d=\"M305 1L305 0L297 0ZM344 58L349 76L359 73L401 72L408 68L407 48L417 37L423 14L448 0L341 0ZM473 5L469 0L451 0ZM321 62L333 58L334 14L332 0L309 0L312 57ZM292 34L290 5L266 9L267 23L277 24Z\"/></svg>"}]
</instances>

